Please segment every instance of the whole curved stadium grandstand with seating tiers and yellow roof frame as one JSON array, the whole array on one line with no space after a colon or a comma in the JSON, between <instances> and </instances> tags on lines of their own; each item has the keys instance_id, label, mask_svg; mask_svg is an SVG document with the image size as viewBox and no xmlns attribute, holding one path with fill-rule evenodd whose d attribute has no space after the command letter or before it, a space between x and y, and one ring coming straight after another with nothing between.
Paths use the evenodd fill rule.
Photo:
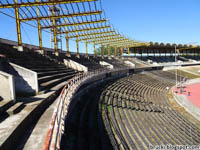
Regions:
<instances>
[{"instance_id":1,"label":"whole curved stadium grandstand with seating tiers and yellow roof frame","mask_svg":"<svg viewBox=\"0 0 200 150\"><path fill-rule=\"evenodd\" d=\"M133 40L102 3L0 0L0 150L200 149L200 46Z\"/></svg>"}]
</instances>

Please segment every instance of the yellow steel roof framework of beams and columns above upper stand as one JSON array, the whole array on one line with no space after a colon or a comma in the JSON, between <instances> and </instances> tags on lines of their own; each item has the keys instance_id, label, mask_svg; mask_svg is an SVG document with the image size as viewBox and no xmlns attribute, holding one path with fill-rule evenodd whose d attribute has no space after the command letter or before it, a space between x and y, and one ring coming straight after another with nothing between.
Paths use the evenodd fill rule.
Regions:
<instances>
[{"instance_id":1,"label":"yellow steel roof framework of beams and columns above upper stand","mask_svg":"<svg viewBox=\"0 0 200 150\"><path fill-rule=\"evenodd\" d=\"M19 46L22 46L22 22L37 25L41 50L42 31L50 31L51 42L57 55L61 35L66 39L66 55L70 55L69 39L75 39L77 55L79 42L84 41L86 56L88 44L93 44L94 55L95 45L106 45L116 49L142 44L123 36L110 25L103 13L100 0L1 0L0 9L10 9L15 15Z\"/></svg>"}]
</instances>

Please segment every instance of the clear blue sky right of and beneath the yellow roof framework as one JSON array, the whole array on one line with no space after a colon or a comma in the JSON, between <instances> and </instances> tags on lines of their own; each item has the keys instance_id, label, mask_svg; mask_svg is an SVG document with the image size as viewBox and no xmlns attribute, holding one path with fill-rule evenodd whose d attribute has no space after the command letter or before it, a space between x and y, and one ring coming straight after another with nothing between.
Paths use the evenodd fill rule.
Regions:
<instances>
[{"instance_id":1,"label":"clear blue sky right of and beneath the yellow roof framework","mask_svg":"<svg viewBox=\"0 0 200 150\"><path fill-rule=\"evenodd\" d=\"M114 27L132 39L200 44L200 0L102 0L102 5ZM16 40L15 20L2 14L0 20L0 37ZM37 45L37 30L22 28L23 42ZM44 46L50 47L49 35L43 33L43 38ZM70 43L75 51L75 43ZM85 46L80 47L84 51Z\"/></svg>"}]
</instances>

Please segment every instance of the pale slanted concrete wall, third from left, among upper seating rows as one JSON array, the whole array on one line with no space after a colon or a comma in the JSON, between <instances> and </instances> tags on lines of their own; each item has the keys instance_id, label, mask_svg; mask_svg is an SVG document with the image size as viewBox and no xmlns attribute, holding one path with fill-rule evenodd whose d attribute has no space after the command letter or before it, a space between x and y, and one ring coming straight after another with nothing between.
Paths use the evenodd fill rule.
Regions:
<instances>
[{"instance_id":1,"label":"pale slanted concrete wall, third from left, among upper seating rows","mask_svg":"<svg viewBox=\"0 0 200 150\"><path fill-rule=\"evenodd\" d=\"M88 72L87 67L85 67L75 61L64 59L64 63L67 67L72 68L74 70Z\"/></svg>"}]
</instances>

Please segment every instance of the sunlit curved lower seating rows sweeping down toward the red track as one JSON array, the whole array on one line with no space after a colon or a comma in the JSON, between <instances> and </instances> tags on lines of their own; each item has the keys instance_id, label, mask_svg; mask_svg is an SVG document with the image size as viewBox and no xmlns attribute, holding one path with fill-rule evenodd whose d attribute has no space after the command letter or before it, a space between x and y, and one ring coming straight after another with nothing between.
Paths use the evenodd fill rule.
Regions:
<instances>
[{"instance_id":1,"label":"sunlit curved lower seating rows sweeping down toward the red track","mask_svg":"<svg viewBox=\"0 0 200 150\"><path fill-rule=\"evenodd\" d=\"M171 107L167 86L173 83L145 73L119 79L101 93L104 123L119 149L200 143L200 128Z\"/></svg>"}]
</instances>

